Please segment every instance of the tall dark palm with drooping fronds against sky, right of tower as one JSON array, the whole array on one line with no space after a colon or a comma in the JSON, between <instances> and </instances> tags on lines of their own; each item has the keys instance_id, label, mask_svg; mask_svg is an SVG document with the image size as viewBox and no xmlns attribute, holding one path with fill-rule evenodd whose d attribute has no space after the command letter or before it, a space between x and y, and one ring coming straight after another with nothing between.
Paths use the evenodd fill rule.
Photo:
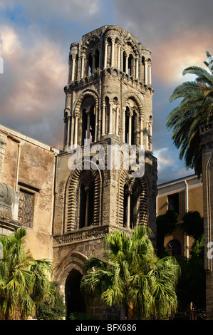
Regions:
<instances>
[{"instance_id":1,"label":"tall dark palm with drooping fronds against sky, right of tower","mask_svg":"<svg viewBox=\"0 0 213 335\"><path fill-rule=\"evenodd\" d=\"M189 66L183 75L192 73L197 78L177 86L170 102L182 98L180 105L167 117L167 130L172 130L172 140L180 148L180 159L185 157L186 168L202 173L202 156L199 127L213 120L213 60L207 51L209 62L204 61L207 70Z\"/></svg>"}]
</instances>

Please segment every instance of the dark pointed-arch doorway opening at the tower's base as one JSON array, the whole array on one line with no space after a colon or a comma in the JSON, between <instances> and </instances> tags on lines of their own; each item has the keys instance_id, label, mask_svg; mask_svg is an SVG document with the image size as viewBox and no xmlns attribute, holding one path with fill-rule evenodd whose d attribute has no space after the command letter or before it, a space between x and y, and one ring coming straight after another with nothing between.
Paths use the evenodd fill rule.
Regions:
<instances>
[{"instance_id":1,"label":"dark pointed-arch doorway opening at the tower's base","mask_svg":"<svg viewBox=\"0 0 213 335\"><path fill-rule=\"evenodd\" d=\"M65 299L67 315L66 319L69 319L72 312L85 313L85 301L83 295L80 293L80 280L82 274L78 270L73 269L66 279L65 284Z\"/></svg>"}]
</instances>

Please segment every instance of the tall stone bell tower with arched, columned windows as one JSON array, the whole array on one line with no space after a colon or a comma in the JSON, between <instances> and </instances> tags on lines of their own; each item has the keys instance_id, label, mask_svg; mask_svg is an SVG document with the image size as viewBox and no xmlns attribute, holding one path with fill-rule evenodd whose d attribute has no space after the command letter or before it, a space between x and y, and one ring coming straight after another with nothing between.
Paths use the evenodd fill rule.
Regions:
<instances>
[{"instance_id":1,"label":"tall stone bell tower with arched, columned windows","mask_svg":"<svg viewBox=\"0 0 213 335\"><path fill-rule=\"evenodd\" d=\"M53 220L56 280L70 310L78 300L71 287L87 257L103 256L107 232L149 225L155 235L151 63L150 49L119 26L71 44ZM139 175L133 153L134 166L143 165Z\"/></svg>"}]
</instances>

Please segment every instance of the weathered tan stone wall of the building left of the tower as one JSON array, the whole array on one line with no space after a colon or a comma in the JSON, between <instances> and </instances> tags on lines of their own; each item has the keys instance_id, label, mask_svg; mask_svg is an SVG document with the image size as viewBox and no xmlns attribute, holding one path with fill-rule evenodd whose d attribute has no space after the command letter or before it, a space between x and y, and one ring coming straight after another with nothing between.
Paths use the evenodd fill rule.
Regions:
<instances>
[{"instance_id":1,"label":"weathered tan stone wall of the building left of the tower","mask_svg":"<svg viewBox=\"0 0 213 335\"><path fill-rule=\"evenodd\" d=\"M31 250L36 259L53 259L51 230L55 153L48 145L28 138L15 130L3 125L0 128L6 134L4 166L2 165L1 170L2 183L11 187L15 195L11 205L12 225L8 225L8 230L11 232L22 226L18 222L20 190L31 192L33 194L33 222L32 227L27 227L26 247ZM58 150L56 151L58 153ZM1 226L4 227L5 232L5 219L1 222Z\"/></svg>"}]
</instances>

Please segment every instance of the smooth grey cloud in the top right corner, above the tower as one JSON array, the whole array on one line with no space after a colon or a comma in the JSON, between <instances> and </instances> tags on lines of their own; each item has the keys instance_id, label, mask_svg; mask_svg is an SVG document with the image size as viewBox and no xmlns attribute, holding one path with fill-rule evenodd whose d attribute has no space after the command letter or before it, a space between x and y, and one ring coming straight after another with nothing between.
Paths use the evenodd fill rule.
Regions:
<instances>
[{"instance_id":1,"label":"smooth grey cloud in the top right corner, above the tower","mask_svg":"<svg viewBox=\"0 0 213 335\"><path fill-rule=\"evenodd\" d=\"M212 27L213 4L209 0L113 0L113 3L123 28L145 45L182 36L185 30Z\"/></svg>"}]
</instances>

